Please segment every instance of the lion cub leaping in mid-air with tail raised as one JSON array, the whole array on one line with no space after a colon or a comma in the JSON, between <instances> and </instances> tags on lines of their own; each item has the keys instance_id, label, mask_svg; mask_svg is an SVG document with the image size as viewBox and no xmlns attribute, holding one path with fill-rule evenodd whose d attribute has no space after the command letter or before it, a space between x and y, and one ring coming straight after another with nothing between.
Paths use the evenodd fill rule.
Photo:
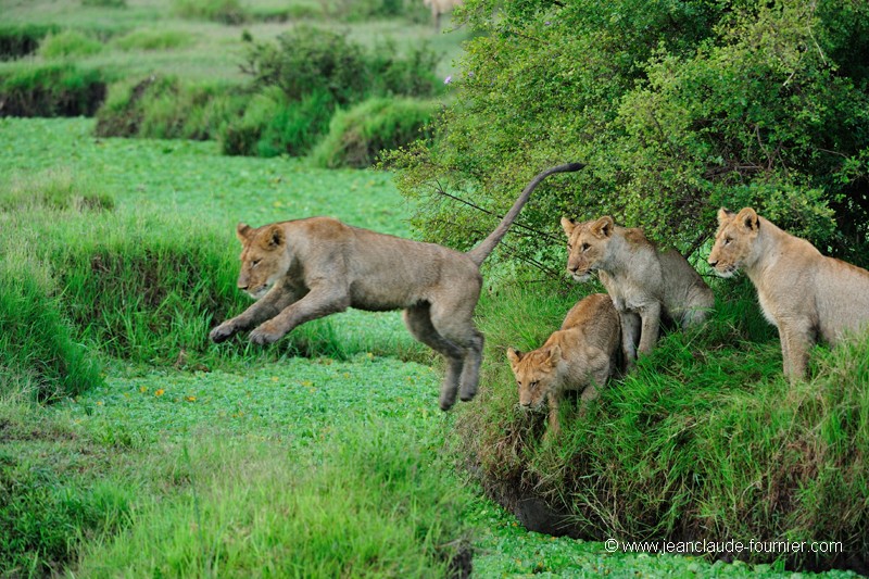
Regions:
<instances>
[{"instance_id":1,"label":"lion cub leaping in mid-air with tail raised","mask_svg":"<svg viewBox=\"0 0 869 579\"><path fill-rule=\"evenodd\" d=\"M483 337L473 315L480 295L480 264L507 232L534 188L553 173L579 171L568 163L534 177L482 242L467 253L368 229L329 217L252 228L239 224L242 244L238 287L256 299L242 314L214 328L222 342L253 328L252 342L278 340L300 324L348 307L404 310L420 342L446 357L440 407L477 393Z\"/></svg>"}]
</instances>

